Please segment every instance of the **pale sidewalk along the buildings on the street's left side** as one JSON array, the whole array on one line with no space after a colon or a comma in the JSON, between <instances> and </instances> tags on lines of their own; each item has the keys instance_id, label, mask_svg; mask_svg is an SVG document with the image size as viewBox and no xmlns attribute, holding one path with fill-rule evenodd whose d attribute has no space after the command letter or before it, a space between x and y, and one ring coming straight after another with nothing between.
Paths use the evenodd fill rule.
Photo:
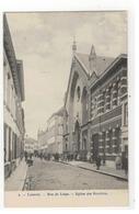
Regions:
<instances>
[{"instance_id":1,"label":"pale sidewalk along the buildings on the street's left side","mask_svg":"<svg viewBox=\"0 0 139 214\"><path fill-rule=\"evenodd\" d=\"M5 191L21 191L26 177L27 165L23 159L12 174L4 181Z\"/></svg>"}]
</instances>

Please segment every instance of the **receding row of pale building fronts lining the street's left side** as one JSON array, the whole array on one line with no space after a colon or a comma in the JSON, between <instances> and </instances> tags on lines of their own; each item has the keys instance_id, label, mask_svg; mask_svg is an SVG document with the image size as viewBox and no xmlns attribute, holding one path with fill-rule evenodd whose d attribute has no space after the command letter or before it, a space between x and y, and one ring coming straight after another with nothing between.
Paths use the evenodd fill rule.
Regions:
<instances>
[{"instance_id":1,"label":"receding row of pale building fronts lining the street's left side","mask_svg":"<svg viewBox=\"0 0 139 214\"><path fill-rule=\"evenodd\" d=\"M3 16L4 176L10 176L24 151L23 63L15 57L7 18Z\"/></svg>"}]
</instances>

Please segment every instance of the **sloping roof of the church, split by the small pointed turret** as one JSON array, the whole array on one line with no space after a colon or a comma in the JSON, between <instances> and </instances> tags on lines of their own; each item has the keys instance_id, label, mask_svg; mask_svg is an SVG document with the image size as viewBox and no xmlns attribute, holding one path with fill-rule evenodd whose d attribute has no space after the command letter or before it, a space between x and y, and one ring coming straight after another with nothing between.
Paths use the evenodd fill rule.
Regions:
<instances>
[{"instance_id":1,"label":"sloping roof of the church, split by the small pointed turret","mask_svg":"<svg viewBox=\"0 0 139 214\"><path fill-rule=\"evenodd\" d=\"M90 74L89 55L77 53L76 56L80 60L80 63L83 64L83 67L85 67L85 71ZM96 76L100 76L113 61L114 61L114 58L112 57L96 55L96 60L95 60Z\"/></svg>"}]
</instances>

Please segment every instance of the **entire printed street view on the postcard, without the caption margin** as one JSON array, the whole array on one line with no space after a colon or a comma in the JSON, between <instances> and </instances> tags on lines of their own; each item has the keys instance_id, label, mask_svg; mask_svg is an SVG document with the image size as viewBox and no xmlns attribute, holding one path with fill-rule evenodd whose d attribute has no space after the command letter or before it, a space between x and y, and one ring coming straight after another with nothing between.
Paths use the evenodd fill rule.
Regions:
<instances>
[{"instance_id":1,"label":"entire printed street view on the postcard, without the caption margin","mask_svg":"<svg viewBox=\"0 0 139 214\"><path fill-rule=\"evenodd\" d=\"M4 190L126 190L127 13L3 14Z\"/></svg>"}]
</instances>

